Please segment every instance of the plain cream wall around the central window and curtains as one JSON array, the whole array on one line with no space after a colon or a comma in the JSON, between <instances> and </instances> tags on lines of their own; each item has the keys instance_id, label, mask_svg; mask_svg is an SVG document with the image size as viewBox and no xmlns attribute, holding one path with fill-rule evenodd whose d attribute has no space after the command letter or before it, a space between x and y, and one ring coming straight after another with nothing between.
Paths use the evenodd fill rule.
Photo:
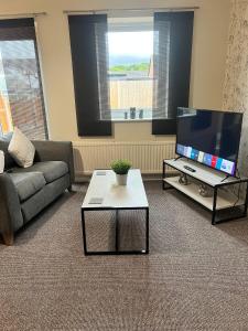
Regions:
<instances>
[{"instance_id":1,"label":"plain cream wall around the central window and curtains","mask_svg":"<svg viewBox=\"0 0 248 331\"><path fill-rule=\"evenodd\" d=\"M106 8L164 8L200 6L195 13L191 105L218 109L222 106L229 0L4 0L1 13L45 11L39 17L37 36L42 55L47 119L52 139L80 140L77 136L67 18L63 10ZM150 122L115 124L117 141L173 140L154 137Z\"/></svg>"}]
</instances>

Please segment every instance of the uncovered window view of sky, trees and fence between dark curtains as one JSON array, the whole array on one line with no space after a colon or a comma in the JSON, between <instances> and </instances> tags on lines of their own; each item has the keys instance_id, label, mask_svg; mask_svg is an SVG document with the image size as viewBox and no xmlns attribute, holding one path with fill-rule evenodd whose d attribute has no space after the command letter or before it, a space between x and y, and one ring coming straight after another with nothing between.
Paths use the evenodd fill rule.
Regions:
<instances>
[{"instance_id":1,"label":"uncovered window view of sky, trees and fence between dark curtains","mask_svg":"<svg viewBox=\"0 0 248 331\"><path fill-rule=\"evenodd\" d=\"M108 33L112 119L150 119L153 31Z\"/></svg>"}]
</instances>

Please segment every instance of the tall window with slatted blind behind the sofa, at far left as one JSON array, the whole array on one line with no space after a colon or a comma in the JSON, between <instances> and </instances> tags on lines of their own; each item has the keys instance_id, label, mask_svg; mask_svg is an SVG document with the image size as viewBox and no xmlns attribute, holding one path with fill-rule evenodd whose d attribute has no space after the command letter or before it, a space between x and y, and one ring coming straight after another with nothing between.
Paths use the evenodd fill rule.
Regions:
<instances>
[{"instance_id":1,"label":"tall window with slatted blind behind the sofa, at far left","mask_svg":"<svg viewBox=\"0 0 248 331\"><path fill-rule=\"evenodd\" d=\"M33 19L0 21L0 134L13 126L47 138Z\"/></svg>"}]
</instances>

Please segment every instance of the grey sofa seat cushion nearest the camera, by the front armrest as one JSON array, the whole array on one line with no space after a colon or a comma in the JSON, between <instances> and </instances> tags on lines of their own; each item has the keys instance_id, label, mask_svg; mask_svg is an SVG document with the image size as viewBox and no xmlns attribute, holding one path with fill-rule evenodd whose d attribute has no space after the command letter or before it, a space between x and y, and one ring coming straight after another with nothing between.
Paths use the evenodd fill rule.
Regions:
<instances>
[{"instance_id":1,"label":"grey sofa seat cushion nearest the camera, by the front armrest","mask_svg":"<svg viewBox=\"0 0 248 331\"><path fill-rule=\"evenodd\" d=\"M37 193L46 184L42 172L10 173L21 202Z\"/></svg>"}]
</instances>

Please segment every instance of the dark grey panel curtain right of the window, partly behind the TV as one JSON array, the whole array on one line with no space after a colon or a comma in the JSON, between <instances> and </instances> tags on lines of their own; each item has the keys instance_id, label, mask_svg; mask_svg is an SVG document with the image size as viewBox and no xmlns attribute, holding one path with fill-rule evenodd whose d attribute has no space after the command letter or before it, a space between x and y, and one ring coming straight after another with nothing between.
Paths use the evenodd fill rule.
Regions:
<instances>
[{"instance_id":1,"label":"dark grey panel curtain right of the window, partly behind the TV","mask_svg":"<svg viewBox=\"0 0 248 331\"><path fill-rule=\"evenodd\" d=\"M154 13L152 134L174 135L188 106L194 12Z\"/></svg>"}]
</instances>

